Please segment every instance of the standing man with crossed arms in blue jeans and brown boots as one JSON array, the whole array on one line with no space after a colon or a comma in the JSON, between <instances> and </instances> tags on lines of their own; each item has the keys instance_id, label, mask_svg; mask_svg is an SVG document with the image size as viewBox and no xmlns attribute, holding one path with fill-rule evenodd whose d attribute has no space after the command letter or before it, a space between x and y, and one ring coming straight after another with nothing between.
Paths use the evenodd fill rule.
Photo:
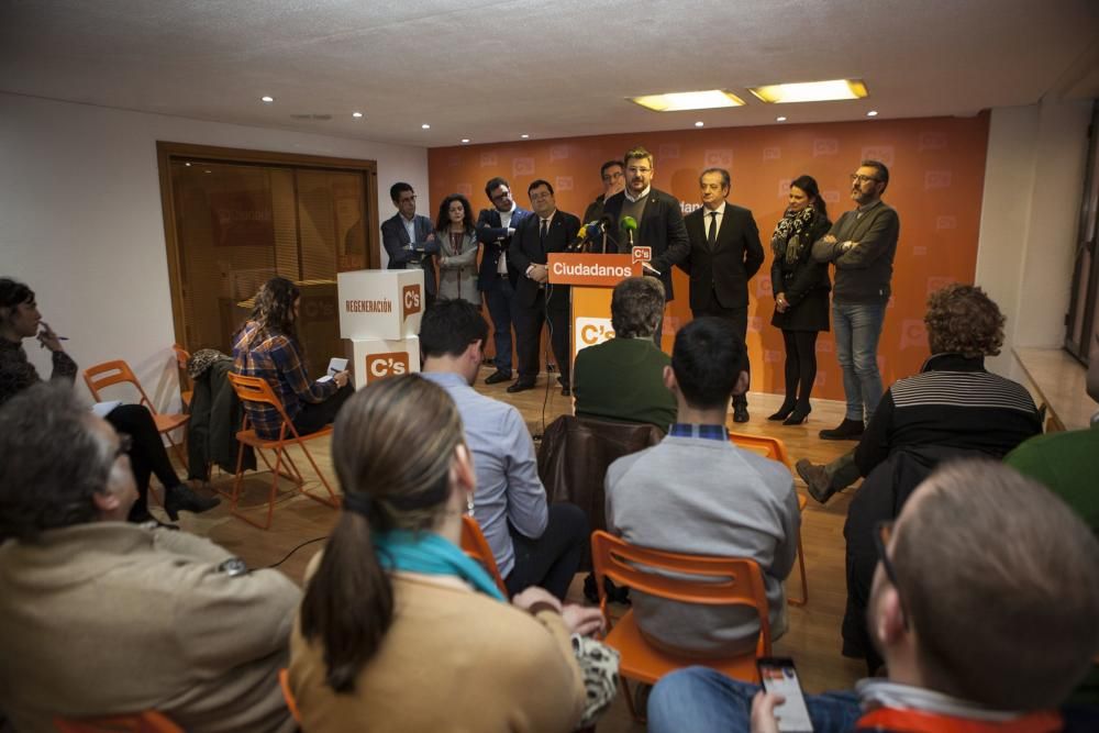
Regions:
<instances>
[{"instance_id":1,"label":"standing man with crossed arms in blue jeans and brown boots","mask_svg":"<svg viewBox=\"0 0 1099 733\"><path fill-rule=\"evenodd\" d=\"M813 244L813 259L835 265L832 321L847 398L843 422L820 432L825 441L858 438L881 399L878 337L900 235L897 211L881 201L888 185L885 164L863 160L851 174L851 198L857 208L844 212L832 230Z\"/></svg>"}]
</instances>

